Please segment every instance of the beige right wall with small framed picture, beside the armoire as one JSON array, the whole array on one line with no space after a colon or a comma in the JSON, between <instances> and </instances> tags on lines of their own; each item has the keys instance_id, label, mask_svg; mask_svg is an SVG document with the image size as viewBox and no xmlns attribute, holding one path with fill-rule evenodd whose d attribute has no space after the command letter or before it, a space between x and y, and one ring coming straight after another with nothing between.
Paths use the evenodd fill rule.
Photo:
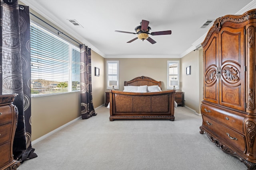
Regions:
<instances>
[{"instance_id":1,"label":"beige right wall with small framed picture, beside the armoire","mask_svg":"<svg viewBox=\"0 0 256 170\"><path fill-rule=\"evenodd\" d=\"M202 50L196 50L188 53L181 59L181 89L184 92L184 98L186 100L185 106L189 107L200 113L200 102L202 98ZM191 66L191 74L186 75L186 67Z\"/></svg>"}]
</instances>

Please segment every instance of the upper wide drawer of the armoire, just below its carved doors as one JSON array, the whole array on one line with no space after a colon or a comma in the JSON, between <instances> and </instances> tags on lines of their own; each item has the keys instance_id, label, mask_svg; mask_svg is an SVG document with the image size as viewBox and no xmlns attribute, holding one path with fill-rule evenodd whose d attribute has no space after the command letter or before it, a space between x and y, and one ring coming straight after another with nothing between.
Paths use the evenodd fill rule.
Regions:
<instances>
[{"instance_id":1,"label":"upper wide drawer of the armoire, just below its carved doors","mask_svg":"<svg viewBox=\"0 0 256 170\"><path fill-rule=\"evenodd\" d=\"M243 122L245 117L243 116L234 114L231 111L226 111L226 109L220 109L206 104L202 104L201 113L208 115L208 117L211 117L232 129L236 129L237 131L244 133Z\"/></svg>"}]
</instances>

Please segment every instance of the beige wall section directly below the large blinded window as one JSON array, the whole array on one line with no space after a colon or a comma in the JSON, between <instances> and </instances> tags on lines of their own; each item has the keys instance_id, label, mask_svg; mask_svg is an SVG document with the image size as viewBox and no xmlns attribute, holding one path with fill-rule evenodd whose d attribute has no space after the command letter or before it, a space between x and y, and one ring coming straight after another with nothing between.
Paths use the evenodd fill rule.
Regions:
<instances>
[{"instance_id":1,"label":"beige wall section directly below the large blinded window","mask_svg":"<svg viewBox=\"0 0 256 170\"><path fill-rule=\"evenodd\" d=\"M80 92L32 97L32 141L76 119L80 113Z\"/></svg>"}]
</instances>

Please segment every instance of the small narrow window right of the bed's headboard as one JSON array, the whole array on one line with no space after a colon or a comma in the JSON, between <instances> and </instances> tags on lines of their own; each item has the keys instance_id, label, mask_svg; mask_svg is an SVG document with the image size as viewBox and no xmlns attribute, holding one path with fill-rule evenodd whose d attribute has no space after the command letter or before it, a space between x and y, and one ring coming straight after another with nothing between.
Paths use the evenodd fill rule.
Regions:
<instances>
[{"instance_id":1,"label":"small narrow window right of the bed's headboard","mask_svg":"<svg viewBox=\"0 0 256 170\"><path fill-rule=\"evenodd\" d=\"M180 89L180 61L167 61L167 89Z\"/></svg>"}]
</instances>

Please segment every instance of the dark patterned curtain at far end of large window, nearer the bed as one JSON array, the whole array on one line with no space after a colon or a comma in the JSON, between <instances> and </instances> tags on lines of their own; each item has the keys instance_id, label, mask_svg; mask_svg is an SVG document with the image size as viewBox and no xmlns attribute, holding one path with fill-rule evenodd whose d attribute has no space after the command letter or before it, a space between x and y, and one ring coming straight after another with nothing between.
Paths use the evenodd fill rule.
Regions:
<instances>
[{"instance_id":1,"label":"dark patterned curtain at far end of large window, nearer the bed","mask_svg":"<svg viewBox=\"0 0 256 170\"><path fill-rule=\"evenodd\" d=\"M80 45L80 84L81 84L81 114L82 119L96 116L92 104L92 66L91 49Z\"/></svg>"}]
</instances>

